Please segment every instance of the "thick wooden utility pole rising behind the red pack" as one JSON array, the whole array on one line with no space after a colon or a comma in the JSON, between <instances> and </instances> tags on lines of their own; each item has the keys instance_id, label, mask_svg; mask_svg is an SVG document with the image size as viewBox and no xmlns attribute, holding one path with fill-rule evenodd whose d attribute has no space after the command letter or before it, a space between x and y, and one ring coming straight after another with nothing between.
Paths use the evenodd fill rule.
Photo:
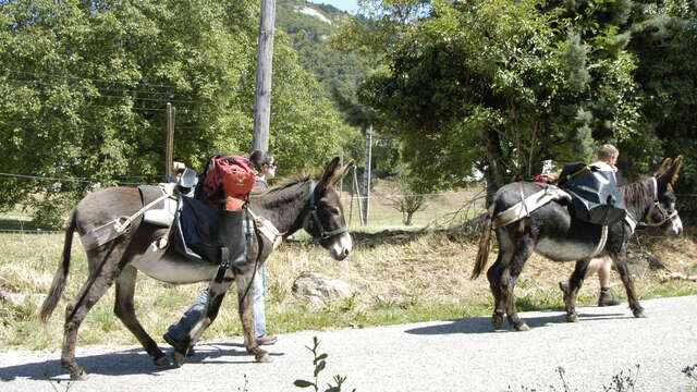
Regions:
<instances>
[{"instance_id":1,"label":"thick wooden utility pole rising behind the red pack","mask_svg":"<svg viewBox=\"0 0 697 392\"><path fill-rule=\"evenodd\" d=\"M273 25L276 0L261 0L261 21L257 48L257 85L254 100L254 133L252 149L269 149L271 118L271 74L273 63Z\"/></svg>"}]
</instances>

